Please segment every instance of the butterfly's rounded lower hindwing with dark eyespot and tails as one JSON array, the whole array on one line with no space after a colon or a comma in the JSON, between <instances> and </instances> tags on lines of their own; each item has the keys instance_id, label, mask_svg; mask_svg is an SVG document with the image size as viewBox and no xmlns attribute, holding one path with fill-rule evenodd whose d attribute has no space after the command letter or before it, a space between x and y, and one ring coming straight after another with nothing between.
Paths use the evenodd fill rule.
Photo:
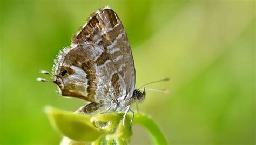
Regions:
<instances>
[{"instance_id":1,"label":"butterfly's rounded lower hindwing with dark eyespot and tails","mask_svg":"<svg viewBox=\"0 0 256 145\"><path fill-rule=\"evenodd\" d=\"M125 83L103 47L72 45L58 56L54 82L61 95L97 103L125 96Z\"/></svg>"}]
</instances>

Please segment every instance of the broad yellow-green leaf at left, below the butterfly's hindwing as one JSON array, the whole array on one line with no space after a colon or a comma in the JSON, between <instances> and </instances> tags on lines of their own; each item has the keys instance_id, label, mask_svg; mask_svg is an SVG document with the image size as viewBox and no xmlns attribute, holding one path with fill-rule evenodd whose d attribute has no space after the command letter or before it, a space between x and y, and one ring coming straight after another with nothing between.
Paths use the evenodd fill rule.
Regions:
<instances>
[{"instance_id":1,"label":"broad yellow-green leaf at left, below the butterfly's hindwing","mask_svg":"<svg viewBox=\"0 0 256 145\"><path fill-rule=\"evenodd\" d=\"M105 134L103 129L96 128L90 122L87 115L74 114L53 107L45 107L45 112L53 128L70 139L91 142Z\"/></svg>"}]
</instances>

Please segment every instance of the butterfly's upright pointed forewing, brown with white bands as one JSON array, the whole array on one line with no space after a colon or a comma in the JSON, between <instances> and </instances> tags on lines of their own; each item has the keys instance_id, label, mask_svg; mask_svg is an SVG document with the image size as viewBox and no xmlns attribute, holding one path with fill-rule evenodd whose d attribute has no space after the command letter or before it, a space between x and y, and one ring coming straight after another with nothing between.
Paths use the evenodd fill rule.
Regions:
<instances>
[{"instance_id":1,"label":"butterfly's upright pointed forewing, brown with white bands","mask_svg":"<svg viewBox=\"0 0 256 145\"><path fill-rule=\"evenodd\" d=\"M72 38L72 43L103 46L125 82L126 96L132 96L135 86L133 56L124 27L111 8L107 6L93 13Z\"/></svg>"}]
</instances>

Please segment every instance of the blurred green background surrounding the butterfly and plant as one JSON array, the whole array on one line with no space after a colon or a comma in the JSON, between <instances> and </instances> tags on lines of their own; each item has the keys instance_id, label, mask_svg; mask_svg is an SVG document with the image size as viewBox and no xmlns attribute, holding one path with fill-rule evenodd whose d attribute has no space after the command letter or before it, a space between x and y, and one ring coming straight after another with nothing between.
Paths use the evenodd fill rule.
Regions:
<instances>
[{"instance_id":1,"label":"blurred green background surrounding the butterfly and plant","mask_svg":"<svg viewBox=\"0 0 256 145\"><path fill-rule=\"evenodd\" d=\"M255 144L255 1L1 1L0 144L58 144L43 108L85 104L37 82L90 13L118 13L130 40L140 111L170 144ZM132 144L149 144L134 126Z\"/></svg>"}]
</instances>

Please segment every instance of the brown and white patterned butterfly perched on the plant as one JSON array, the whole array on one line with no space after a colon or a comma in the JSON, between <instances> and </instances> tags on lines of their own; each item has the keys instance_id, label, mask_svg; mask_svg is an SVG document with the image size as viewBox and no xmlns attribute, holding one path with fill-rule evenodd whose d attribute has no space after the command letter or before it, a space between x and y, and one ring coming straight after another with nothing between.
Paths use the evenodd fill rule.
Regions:
<instances>
[{"instance_id":1,"label":"brown and white patterned butterfly perched on the plant","mask_svg":"<svg viewBox=\"0 0 256 145\"><path fill-rule=\"evenodd\" d=\"M90 102L80 107L78 113L125 111L124 125L129 111L134 117L131 104L145 99L145 89L134 89L135 67L129 40L119 17L109 6L91 14L72 37L71 46L59 52L52 71L41 73L51 74L53 81L38 81L55 83L62 96Z\"/></svg>"}]
</instances>

